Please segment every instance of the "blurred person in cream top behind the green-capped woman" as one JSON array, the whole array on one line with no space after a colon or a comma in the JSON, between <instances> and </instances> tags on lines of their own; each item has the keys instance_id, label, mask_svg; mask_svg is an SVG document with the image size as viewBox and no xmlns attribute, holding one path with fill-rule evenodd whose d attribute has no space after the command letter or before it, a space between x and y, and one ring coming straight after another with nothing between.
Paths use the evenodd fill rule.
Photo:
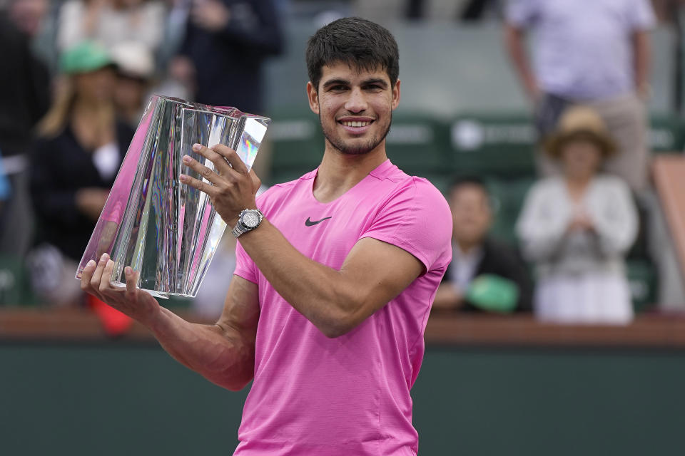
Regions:
<instances>
[{"instance_id":1,"label":"blurred person in cream top behind the green-capped woman","mask_svg":"<svg viewBox=\"0 0 685 456\"><path fill-rule=\"evenodd\" d=\"M108 50L137 41L155 52L164 35L166 7L158 0L68 0L59 13L57 44L64 51L83 40Z\"/></svg>"}]
</instances>

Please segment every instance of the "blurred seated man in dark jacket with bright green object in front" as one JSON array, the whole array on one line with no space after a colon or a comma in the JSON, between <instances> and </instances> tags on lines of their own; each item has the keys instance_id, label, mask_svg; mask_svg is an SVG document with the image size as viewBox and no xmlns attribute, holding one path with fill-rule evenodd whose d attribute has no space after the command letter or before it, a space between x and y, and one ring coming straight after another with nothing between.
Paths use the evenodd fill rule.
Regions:
<instances>
[{"instance_id":1,"label":"blurred seated man in dark jacket with bright green object in front","mask_svg":"<svg viewBox=\"0 0 685 456\"><path fill-rule=\"evenodd\" d=\"M433 309L529 311L532 284L527 264L511 247L488 237L490 197L477 178L450 188L452 263L437 290Z\"/></svg>"}]
</instances>

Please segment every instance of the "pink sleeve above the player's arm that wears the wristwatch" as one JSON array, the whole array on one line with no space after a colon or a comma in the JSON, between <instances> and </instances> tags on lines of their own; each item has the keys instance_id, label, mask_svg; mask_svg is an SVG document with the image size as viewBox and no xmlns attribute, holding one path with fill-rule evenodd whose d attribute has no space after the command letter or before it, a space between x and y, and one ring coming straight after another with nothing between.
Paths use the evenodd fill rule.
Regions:
<instances>
[{"instance_id":1,"label":"pink sleeve above the player's arm that wears the wristwatch","mask_svg":"<svg viewBox=\"0 0 685 456\"><path fill-rule=\"evenodd\" d=\"M414 177L380 209L360 239L365 237L409 252L425 271L447 266L452 257L450 207L430 182Z\"/></svg>"}]
</instances>

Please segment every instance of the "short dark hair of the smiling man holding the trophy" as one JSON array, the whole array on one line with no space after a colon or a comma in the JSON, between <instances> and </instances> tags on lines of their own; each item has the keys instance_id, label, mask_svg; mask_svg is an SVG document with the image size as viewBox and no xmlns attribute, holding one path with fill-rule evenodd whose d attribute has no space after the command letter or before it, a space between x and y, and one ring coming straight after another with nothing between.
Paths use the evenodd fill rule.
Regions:
<instances>
[{"instance_id":1,"label":"short dark hair of the smiling man holding the trophy","mask_svg":"<svg viewBox=\"0 0 685 456\"><path fill-rule=\"evenodd\" d=\"M387 72L392 86L400 76L397 42L386 28L358 17L346 17L323 26L307 43L309 81L319 90L323 66L348 63L359 70Z\"/></svg>"}]
</instances>

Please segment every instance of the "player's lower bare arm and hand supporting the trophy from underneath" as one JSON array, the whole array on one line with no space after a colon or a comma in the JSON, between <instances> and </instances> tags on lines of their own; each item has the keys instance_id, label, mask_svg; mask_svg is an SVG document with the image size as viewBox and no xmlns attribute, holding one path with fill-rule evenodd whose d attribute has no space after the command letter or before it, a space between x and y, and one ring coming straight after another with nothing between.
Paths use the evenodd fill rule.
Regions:
<instances>
[{"instance_id":1,"label":"player's lower bare arm and hand supporting the trophy from underneath","mask_svg":"<svg viewBox=\"0 0 685 456\"><path fill-rule=\"evenodd\" d=\"M217 385L240 390L252 380L259 320L258 287L233 276L223 314L214 325L190 323L159 306L136 287L137 274L126 268L126 289L110 284L113 261L83 269L81 289L149 328L173 358Z\"/></svg>"}]
</instances>

